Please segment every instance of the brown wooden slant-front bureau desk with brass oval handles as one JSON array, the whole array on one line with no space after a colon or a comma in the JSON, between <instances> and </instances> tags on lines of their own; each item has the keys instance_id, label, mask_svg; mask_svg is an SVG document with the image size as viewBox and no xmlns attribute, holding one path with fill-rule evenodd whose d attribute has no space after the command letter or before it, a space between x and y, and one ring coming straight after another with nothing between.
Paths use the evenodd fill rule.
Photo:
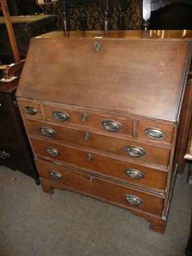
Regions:
<instances>
[{"instance_id":1,"label":"brown wooden slant-front bureau desk with brass oval handles","mask_svg":"<svg viewBox=\"0 0 192 256\"><path fill-rule=\"evenodd\" d=\"M97 198L164 232L191 111L190 37L54 31L31 40L16 97L45 192Z\"/></svg>"}]
</instances>

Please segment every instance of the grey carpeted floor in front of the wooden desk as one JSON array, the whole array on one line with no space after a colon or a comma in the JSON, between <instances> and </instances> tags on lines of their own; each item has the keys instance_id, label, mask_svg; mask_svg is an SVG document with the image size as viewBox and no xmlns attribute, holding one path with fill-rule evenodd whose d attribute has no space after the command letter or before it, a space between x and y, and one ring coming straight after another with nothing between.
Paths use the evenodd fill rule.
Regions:
<instances>
[{"instance_id":1,"label":"grey carpeted floor in front of the wooden desk","mask_svg":"<svg viewBox=\"0 0 192 256\"><path fill-rule=\"evenodd\" d=\"M0 255L185 255L192 206L187 176L187 170L177 174L162 235L129 211L67 190L48 195L30 177L0 166Z\"/></svg>"}]
</instances>

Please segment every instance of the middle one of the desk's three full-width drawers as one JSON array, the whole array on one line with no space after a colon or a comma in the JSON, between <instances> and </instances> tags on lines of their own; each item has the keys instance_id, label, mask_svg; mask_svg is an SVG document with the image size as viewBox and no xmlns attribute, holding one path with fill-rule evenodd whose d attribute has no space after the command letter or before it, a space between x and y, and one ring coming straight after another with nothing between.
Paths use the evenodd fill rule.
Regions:
<instances>
[{"instance_id":1,"label":"middle one of the desk's three full-width drawers","mask_svg":"<svg viewBox=\"0 0 192 256\"><path fill-rule=\"evenodd\" d=\"M99 175L105 175L124 182L131 182L139 186L146 186L147 188L159 189L161 191L164 191L166 188L167 172L129 163L128 161L120 161L111 157L101 156L90 152L90 150L57 145L49 141L31 138L31 143L36 156L70 164L81 168L81 170L90 170L90 172ZM49 154L49 151L46 149L50 147L58 148L60 154L58 156Z\"/></svg>"}]
</instances>

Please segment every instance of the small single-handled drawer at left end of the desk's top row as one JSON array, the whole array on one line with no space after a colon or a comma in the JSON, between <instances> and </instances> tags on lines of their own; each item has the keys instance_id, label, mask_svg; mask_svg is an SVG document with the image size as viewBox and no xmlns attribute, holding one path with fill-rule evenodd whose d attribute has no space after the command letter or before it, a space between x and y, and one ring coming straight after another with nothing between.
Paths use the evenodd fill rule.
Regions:
<instances>
[{"instance_id":1,"label":"small single-handled drawer at left end of the desk's top row","mask_svg":"<svg viewBox=\"0 0 192 256\"><path fill-rule=\"evenodd\" d=\"M35 118L42 118L42 111L40 110L40 104L36 102L18 102L20 113L23 116L33 116Z\"/></svg>"}]
</instances>

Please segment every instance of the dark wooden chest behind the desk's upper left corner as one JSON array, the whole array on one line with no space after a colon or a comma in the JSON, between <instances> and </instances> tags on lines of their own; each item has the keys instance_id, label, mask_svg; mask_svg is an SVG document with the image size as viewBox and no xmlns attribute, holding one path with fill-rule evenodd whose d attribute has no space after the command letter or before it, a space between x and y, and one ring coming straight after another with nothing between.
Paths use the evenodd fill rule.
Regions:
<instances>
[{"instance_id":1,"label":"dark wooden chest behind the desk's upper left corner","mask_svg":"<svg viewBox=\"0 0 192 256\"><path fill-rule=\"evenodd\" d=\"M56 30L56 15L12 16L13 31L20 58L25 58L32 37ZM0 17L0 59L14 62L4 17Z\"/></svg>"}]
</instances>

